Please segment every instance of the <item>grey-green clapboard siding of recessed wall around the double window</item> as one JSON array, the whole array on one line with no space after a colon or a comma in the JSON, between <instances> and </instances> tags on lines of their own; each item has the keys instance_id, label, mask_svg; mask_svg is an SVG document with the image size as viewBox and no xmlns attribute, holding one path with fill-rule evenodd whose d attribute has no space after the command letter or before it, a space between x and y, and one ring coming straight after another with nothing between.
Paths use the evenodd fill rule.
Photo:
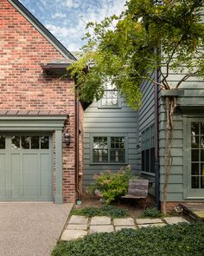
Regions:
<instances>
[{"instance_id":1,"label":"grey-green clapboard siding of recessed wall around the double window","mask_svg":"<svg viewBox=\"0 0 204 256\"><path fill-rule=\"evenodd\" d=\"M86 108L84 113L84 187L92 184L94 174L107 169L117 172L123 164L95 164L90 159L92 135L126 135L127 164L131 164L132 171L137 172L137 111L126 106L121 99L121 108L98 108L98 102Z\"/></svg>"}]
</instances>

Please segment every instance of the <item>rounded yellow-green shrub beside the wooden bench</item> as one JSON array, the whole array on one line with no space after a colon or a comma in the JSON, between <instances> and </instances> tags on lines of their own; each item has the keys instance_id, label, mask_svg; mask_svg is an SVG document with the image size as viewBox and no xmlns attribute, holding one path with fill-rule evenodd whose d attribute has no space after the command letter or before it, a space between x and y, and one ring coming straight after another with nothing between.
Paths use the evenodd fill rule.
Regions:
<instances>
[{"instance_id":1,"label":"rounded yellow-green shrub beside the wooden bench","mask_svg":"<svg viewBox=\"0 0 204 256\"><path fill-rule=\"evenodd\" d=\"M106 204L119 199L128 191L128 181L131 179L131 167L121 169L118 173L114 174L111 171L106 171L101 174L94 175L96 181L94 185L88 188L88 193L93 193L99 190L102 194Z\"/></svg>"}]
</instances>

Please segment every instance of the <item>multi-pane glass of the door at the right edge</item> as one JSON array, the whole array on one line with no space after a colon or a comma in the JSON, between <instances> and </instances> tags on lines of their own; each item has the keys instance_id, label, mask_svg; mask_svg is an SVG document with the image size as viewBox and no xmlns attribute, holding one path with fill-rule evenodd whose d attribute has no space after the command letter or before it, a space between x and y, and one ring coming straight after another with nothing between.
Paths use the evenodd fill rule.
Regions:
<instances>
[{"instance_id":1,"label":"multi-pane glass of the door at the right edge","mask_svg":"<svg viewBox=\"0 0 204 256\"><path fill-rule=\"evenodd\" d=\"M191 122L191 188L204 188L204 122Z\"/></svg>"}]
</instances>

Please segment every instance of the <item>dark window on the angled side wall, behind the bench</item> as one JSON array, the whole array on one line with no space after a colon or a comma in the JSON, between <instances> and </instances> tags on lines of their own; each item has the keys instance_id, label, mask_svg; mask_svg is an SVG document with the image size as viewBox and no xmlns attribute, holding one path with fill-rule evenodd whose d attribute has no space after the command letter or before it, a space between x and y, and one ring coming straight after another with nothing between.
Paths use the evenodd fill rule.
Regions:
<instances>
[{"instance_id":1,"label":"dark window on the angled side wall, behind the bench","mask_svg":"<svg viewBox=\"0 0 204 256\"><path fill-rule=\"evenodd\" d=\"M155 128L151 125L142 132L142 171L155 173Z\"/></svg>"}]
</instances>

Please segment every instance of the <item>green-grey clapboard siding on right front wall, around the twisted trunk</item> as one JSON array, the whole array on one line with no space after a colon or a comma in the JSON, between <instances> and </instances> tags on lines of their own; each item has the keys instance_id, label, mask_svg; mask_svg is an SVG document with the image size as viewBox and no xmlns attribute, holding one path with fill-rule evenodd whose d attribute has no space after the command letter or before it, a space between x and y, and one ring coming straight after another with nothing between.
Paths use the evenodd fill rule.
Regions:
<instances>
[{"instance_id":1,"label":"green-grey clapboard siding on right front wall, around the twisted trunk","mask_svg":"<svg viewBox=\"0 0 204 256\"><path fill-rule=\"evenodd\" d=\"M165 70L165 68L163 69ZM185 70L184 70L185 72ZM170 72L168 77L171 87L175 87L178 81L182 78L183 74L174 74ZM179 106L202 106L204 107L204 82L203 79L196 76L191 76L188 81L182 82L179 89L184 89L184 95L178 97L177 104ZM164 179L164 148L165 148L165 102L160 96L159 101L159 148L160 148L160 183L161 183L161 200L163 199L162 187ZM204 109L204 108L203 108ZM169 185L167 190L167 200L169 201L182 201L185 200L183 196L184 181L183 173L187 170L183 169L183 164L187 159L183 156L183 117L182 113L177 111L174 115L174 134L171 148L171 154L173 156L172 167L169 176Z\"/></svg>"}]
</instances>

